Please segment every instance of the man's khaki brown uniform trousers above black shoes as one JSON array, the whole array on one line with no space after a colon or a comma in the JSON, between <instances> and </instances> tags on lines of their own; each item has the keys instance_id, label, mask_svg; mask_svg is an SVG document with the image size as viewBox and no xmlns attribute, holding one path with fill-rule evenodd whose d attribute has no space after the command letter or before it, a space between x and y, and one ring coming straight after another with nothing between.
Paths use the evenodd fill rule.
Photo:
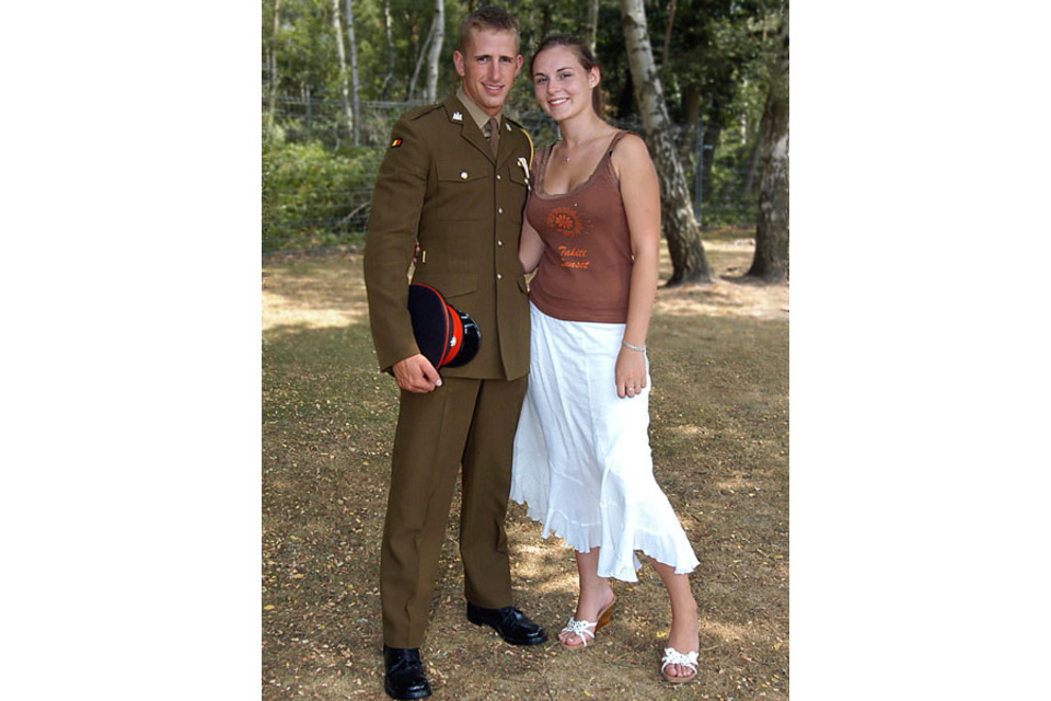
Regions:
<instances>
[{"instance_id":1,"label":"man's khaki brown uniform trousers above black shoes","mask_svg":"<svg viewBox=\"0 0 1051 701\"><path fill-rule=\"evenodd\" d=\"M388 646L423 643L461 463L464 595L485 608L511 605L504 518L524 397L524 377L442 378L428 394L402 391L380 554Z\"/></svg>"}]
</instances>

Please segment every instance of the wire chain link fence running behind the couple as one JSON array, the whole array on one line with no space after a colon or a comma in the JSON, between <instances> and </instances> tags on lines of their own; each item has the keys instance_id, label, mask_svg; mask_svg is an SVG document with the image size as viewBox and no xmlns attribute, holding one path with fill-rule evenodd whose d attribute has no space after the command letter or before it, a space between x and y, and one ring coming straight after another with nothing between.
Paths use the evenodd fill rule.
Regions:
<instances>
[{"instance_id":1,"label":"wire chain link fence running behind the couple","mask_svg":"<svg viewBox=\"0 0 1051 701\"><path fill-rule=\"evenodd\" d=\"M263 99L263 252L356 244L369 220L372 186L391 127L419 102L361 102L357 143L340 100L311 95ZM558 137L541 111L512 112L538 148ZM614 120L643 134L642 124ZM726 129L701 143L702 125L674 125L683 168L702 226L751 226L755 217L754 143ZM711 161L702 166L702 154Z\"/></svg>"}]
</instances>

